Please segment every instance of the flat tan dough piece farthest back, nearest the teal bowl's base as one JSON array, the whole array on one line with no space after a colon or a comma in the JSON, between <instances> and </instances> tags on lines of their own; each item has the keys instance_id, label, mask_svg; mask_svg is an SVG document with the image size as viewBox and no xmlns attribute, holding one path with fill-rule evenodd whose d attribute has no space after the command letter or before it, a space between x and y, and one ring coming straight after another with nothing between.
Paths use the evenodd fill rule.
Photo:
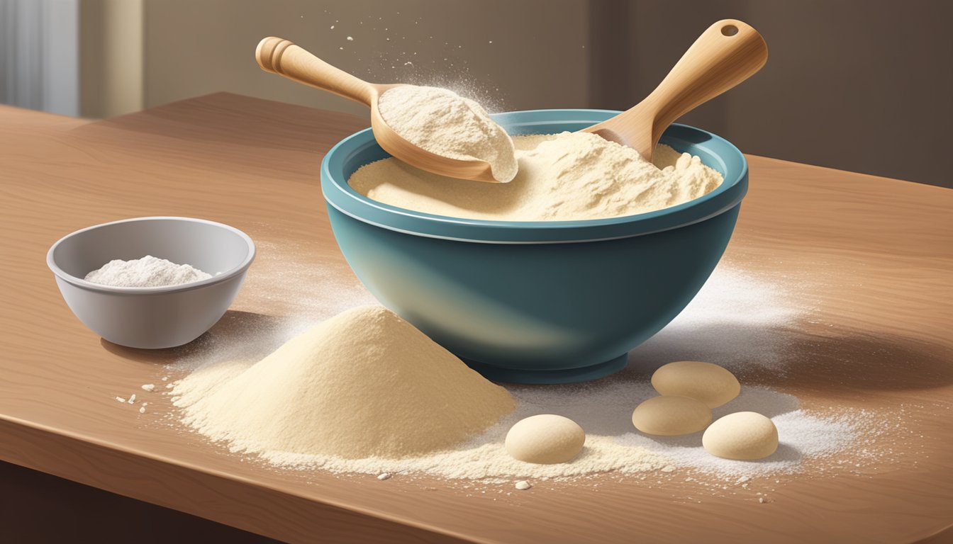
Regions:
<instances>
[{"instance_id":1,"label":"flat tan dough piece farthest back, nearest the teal bowl's base","mask_svg":"<svg viewBox=\"0 0 953 544\"><path fill-rule=\"evenodd\" d=\"M659 367L652 374L652 387L662 395L697 398L708 408L718 408L741 392L735 374L701 361L676 361Z\"/></svg>"}]
</instances>

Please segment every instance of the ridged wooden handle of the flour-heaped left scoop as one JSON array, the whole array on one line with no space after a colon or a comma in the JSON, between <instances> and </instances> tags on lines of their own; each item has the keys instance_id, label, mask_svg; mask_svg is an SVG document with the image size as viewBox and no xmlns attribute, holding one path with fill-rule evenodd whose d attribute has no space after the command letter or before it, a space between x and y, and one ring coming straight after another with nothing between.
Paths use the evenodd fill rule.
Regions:
<instances>
[{"instance_id":1,"label":"ridged wooden handle of the flour-heaped left scoop","mask_svg":"<svg viewBox=\"0 0 953 544\"><path fill-rule=\"evenodd\" d=\"M375 86L346 71L337 69L293 42L274 36L258 42L254 58L261 70L283 75L338 96L350 98L368 107L375 96Z\"/></svg>"}]
</instances>

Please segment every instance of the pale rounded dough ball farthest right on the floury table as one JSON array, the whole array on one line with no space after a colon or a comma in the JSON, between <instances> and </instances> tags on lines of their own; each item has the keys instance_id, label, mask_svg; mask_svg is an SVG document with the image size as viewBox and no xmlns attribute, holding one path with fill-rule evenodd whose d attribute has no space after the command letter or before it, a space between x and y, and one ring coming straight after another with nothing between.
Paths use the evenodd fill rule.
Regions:
<instances>
[{"instance_id":1,"label":"pale rounded dough ball farthest right on the floury table","mask_svg":"<svg viewBox=\"0 0 953 544\"><path fill-rule=\"evenodd\" d=\"M701 445L706 452L725 459L763 459L778 450L778 428L757 412L729 413L708 427Z\"/></svg>"}]
</instances>

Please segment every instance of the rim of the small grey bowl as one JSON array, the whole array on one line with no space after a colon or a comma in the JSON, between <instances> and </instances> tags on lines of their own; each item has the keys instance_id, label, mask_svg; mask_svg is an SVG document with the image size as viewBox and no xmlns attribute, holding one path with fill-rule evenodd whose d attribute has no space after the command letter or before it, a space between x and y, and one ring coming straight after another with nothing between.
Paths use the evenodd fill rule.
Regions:
<instances>
[{"instance_id":1,"label":"rim of the small grey bowl","mask_svg":"<svg viewBox=\"0 0 953 544\"><path fill-rule=\"evenodd\" d=\"M232 269L229 269L226 272L213 275L210 278L203 279L201 281L195 281L192 283L159 286L159 287L117 287L112 285L103 285L100 283L93 283L91 281L86 281L85 279L81 277L76 277L70 273L65 272L63 269L59 267L59 265L56 264L56 261L53 258L53 253L56 252L56 248L58 248L60 244L66 242L67 240L69 240L73 236L76 236L77 234L93 231L96 229L101 229L103 227L108 227L111 225L134 223L138 221L155 221L155 220L178 221L178 222L184 222L184 223L203 223L205 225L212 225L213 227L224 229L226 231L232 232L233 234L237 234L242 240L245 241L245 244L248 247L248 254L245 256L245 258L242 260L242 262L238 266L233 267ZM87 291L109 292L113 294L161 294L166 292L192 291L193 289L201 289L203 287L207 287L217 283L226 282L232 279L233 277L246 272L248 268L252 265L252 261L254 260L254 254L255 254L255 248L254 248L254 241L252 240L252 237L246 234L245 232L235 229L234 227L230 225L226 225L225 223L218 223L216 221L210 221L208 219L199 219L197 217L179 217L179 216L173 216L173 215L151 215L148 217L130 217L128 219L119 219L117 221L110 221L108 223L100 223L98 225L92 225L91 227L86 227L85 229L80 229L78 231L70 232L69 234L63 236L59 240L56 240L56 242L54 242L53 245L50 247L50 250L47 252L47 266L50 267L50 270L53 272L53 274L56 275L57 278L67 283L70 283L71 285L75 287L85 289Z\"/></svg>"}]
</instances>

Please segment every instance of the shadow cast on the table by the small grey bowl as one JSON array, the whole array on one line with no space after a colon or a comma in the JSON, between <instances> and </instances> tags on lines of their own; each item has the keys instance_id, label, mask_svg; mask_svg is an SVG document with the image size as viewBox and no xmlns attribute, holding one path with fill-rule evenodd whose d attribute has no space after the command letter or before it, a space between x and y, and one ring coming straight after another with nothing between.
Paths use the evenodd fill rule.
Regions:
<instances>
[{"instance_id":1,"label":"shadow cast on the table by the small grey bowl","mask_svg":"<svg viewBox=\"0 0 953 544\"><path fill-rule=\"evenodd\" d=\"M100 339L103 348L126 359L142 363L171 364L189 359L201 359L216 354L216 358L235 357L257 360L280 346L287 327L284 317L255 312L229 310L208 332L192 342L166 350L140 350L113 344Z\"/></svg>"}]
</instances>

